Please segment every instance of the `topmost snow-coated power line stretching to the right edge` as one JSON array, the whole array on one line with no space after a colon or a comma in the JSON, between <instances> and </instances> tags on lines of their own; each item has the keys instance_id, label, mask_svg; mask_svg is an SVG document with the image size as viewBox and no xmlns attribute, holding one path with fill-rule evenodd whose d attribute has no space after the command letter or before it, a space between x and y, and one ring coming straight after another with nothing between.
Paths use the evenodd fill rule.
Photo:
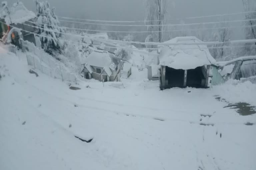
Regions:
<instances>
[{"instance_id":1,"label":"topmost snow-coated power line stretching to the right edge","mask_svg":"<svg viewBox=\"0 0 256 170\"><path fill-rule=\"evenodd\" d=\"M71 18L71 17L61 17L58 18L63 19L73 19L73 20L82 20L82 21L91 21L91 22L108 22L108 23L137 23L137 22L151 22L151 21L175 21L175 20L186 20L186 19L199 19L199 18L209 18L209 17L223 17L230 15L238 15L238 14L248 14L255 13L255 11L247 11L247 12L239 12L239 13L230 13L230 14L217 14L217 15L207 15L207 16L199 16L199 17L187 17L187 18L176 18L176 19L168 19L168 20L139 20L139 21L111 21L111 20L90 20L90 19L79 19L79 18Z\"/></svg>"}]
</instances>

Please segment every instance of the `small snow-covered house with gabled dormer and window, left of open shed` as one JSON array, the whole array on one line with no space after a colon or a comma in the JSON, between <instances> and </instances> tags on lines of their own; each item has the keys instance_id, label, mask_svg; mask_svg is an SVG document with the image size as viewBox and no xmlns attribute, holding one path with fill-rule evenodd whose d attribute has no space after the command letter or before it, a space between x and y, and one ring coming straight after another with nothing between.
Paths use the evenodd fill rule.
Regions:
<instances>
[{"instance_id":1,"label":"small snow-covered house with gabled dormer and window, left of open shed","mask_svg":"<svg viewBox=\"0 0 256 170\"><path fill-rule=\"evenodd\" d=\"M82 64L84 78L100 81L120 81L120 59L104 50L94 50Z\"/></svg>"}]
</instances>

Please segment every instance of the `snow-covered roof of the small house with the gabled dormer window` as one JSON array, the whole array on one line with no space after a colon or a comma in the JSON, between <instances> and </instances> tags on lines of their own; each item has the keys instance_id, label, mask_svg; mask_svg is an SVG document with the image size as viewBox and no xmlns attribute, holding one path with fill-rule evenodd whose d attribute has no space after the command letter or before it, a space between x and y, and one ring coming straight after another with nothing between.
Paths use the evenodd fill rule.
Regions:
<instances>
[{"instance_id":1,"label":"snow-covered roof of the small house with the gabled dormer window","mask_svg":"<svg viewBox=\"0 0 256 170\"><path fill-rule=\"evenodd\" d=\"M92 71L90 66L101 67L107 73L108 76L112 74L112 71L117 67L118 61L115 60L113 54L104 50L93 51L84 61L86 69ZM89 70L89 69L91 70Z\"/></svg>"}]
</instances>

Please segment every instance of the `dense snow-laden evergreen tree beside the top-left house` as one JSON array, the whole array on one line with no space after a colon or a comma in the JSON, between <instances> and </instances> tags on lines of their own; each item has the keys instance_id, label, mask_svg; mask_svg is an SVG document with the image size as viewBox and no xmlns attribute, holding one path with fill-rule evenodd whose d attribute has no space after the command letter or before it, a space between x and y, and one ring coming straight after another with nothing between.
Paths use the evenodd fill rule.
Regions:
<instances>
[{"instance_id":1,"label":"dense snow-laden evergreen tree beside the top-left house","mask_svg":"<svg viewBox=\"0 0 256 170\"><path fill-rule=\"evenodd\" d=\"M61 51L65 48L65 42L61 40L62 33L65 29L61 28L60 22L55 15L55 8L50 8L50 4L46 2L38 2L36 0L37 23L40 24L38 34L40 37L42 48L47 52Z\"/></svg>"}]
</instances>

